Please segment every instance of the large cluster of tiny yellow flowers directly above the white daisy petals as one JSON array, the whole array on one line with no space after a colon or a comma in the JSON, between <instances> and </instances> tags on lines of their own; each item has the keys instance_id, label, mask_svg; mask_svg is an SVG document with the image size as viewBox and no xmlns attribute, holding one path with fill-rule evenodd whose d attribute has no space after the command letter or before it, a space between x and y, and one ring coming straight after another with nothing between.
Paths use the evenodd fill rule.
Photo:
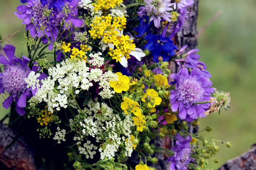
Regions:
<instances>
[{"instance_id":1,"label":"large cluster of tiny yellow flowers directly above the white daisy petals","mask_svg":"<svg viewBox=\"0 0 256 170\"><path fill-rule=\"evenodd\" d=\"M89 33L93 39L102 39L104 43L112 44L115 49L109 48L109 55L116 62L121 62L121 57L126 60L131 58L129 53L135 50L133 40L128 35L123 35L121 31L126 28L126 18L108 16L97 16L93 19Z\"/></svg>"}]
</instances>

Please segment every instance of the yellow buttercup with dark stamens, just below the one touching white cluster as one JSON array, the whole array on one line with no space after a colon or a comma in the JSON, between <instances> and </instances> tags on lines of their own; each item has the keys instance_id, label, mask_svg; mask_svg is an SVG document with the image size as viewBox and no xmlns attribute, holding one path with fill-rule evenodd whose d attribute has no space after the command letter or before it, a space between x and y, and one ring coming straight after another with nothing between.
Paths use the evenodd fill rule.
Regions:
<instances>
[{"instance_id":1,"label":"yellow buttercup with dark stamens, just below the one touching white cluster","mask_svg":"<svg viewBox=\"0 0 256 170\"><path fill-rule=\"evenodd\" d=\"M141 114L140 105L138 102L133 101L129 98L123 99L124 101L121 103L121 108L124 110L125 114L133 113L134 115Z\"/></svg>"}]
</instances>

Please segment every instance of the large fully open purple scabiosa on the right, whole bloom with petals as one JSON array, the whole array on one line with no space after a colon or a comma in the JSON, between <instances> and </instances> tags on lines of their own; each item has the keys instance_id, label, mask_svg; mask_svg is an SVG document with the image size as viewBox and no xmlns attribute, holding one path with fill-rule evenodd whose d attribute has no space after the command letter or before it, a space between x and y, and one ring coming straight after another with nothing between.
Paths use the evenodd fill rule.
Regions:
<instances>
[{"instance_id":1,"label":"large fully open purple scabiosa on the right, whole bloom with petals","mask_svg":"<svg viewBox=\"0 0 256 170\"><path fill-rule=\"evenodd\" d=\"M171 90L170 103L172 112L179 110L180 119L197 119L205 117L204 112L209 108L210 103L194 104L210 100L211 93L214 88L211 88L211 80L198 68L191 70L183 68L178 73L172 74L174 79L175 90Z\"/></svg>"}]
</instances>

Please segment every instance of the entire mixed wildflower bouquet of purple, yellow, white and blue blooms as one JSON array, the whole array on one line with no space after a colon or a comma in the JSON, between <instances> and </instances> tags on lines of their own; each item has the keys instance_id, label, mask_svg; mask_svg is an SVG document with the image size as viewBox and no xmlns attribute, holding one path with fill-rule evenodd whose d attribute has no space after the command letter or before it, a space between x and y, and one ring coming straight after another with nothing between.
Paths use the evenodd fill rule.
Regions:
<instances>
[{"instance_id":1,"label":"entire mixed wildflower bouquet of purple, yellow, white and blue blooms","mask_svg":"<svg viewBox=\"0 0 256 170\"><path fill-rule=\"evenodd\" d=\"M37 127L41 151L60 148L55 169L153 170L161 162L199 170L209 159L218 163L219 140L195 129L199 118L229 107L229 92L212 87L198 49L178 48L173 38L194 0L20 2L15 15L26 26L28 54L4 46L0 93L9 94L3 107L12 108L13 124Z\"/></svg>"}]
</instances>

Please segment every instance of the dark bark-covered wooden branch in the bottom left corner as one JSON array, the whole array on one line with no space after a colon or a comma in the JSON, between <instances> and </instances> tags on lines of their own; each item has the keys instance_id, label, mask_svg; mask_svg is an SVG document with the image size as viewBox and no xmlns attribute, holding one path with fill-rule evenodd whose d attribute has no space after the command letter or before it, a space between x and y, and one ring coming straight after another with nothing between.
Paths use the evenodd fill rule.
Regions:
<instances>
[{"instance_id":1,"label":"dark bark-covered wooden branch in the bottom left corner","mask_svg":"<svg viewBox=\"0 0 256 170\"><path fill-rule=\"evenodd\" d=\"M9 148L4 149L15 137L16 133L0 122L0 162L14 170L36 170L34 154L22 137L19 137Z\"/></svg>"}]
</instances>

